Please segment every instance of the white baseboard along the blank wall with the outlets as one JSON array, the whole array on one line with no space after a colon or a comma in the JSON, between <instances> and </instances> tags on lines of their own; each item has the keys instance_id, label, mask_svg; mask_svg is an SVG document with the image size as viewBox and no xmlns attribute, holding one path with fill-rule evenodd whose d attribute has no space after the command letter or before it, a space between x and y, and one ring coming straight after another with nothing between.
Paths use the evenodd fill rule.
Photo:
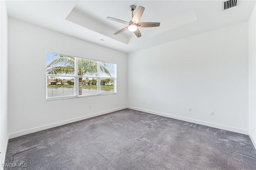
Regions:
<instances>
[{"instance_id":1,"label":"white baseboard along the blank wall with the outlets","mask_svg":"<svg viewBox=\"0 0 256 170\"><path fill-rule=\"evenodd\" d=\"M137 108L137 107L130 107L130 106L128 106L127 108L128 109L137 110L137 111L146 112L146 113L151 113L151 114L154 114L154 115L170 117L170 118L178 119L178 120L181 120L181 121L187 121L187 122L196 123L196 124L200 124L200 125L204 125L204 126L208 126L208 127L214 127L214 128L219 128L219 129L223 129L223 130L228 130L228 131L232 131L232 132L237 132L237 133L242 133L242 134L247 134L248 135L248 130L242 129L242 128L229 127L229 126L219 125L219 124L215 124L215 123L211 123L211 122L199 121L199 120L196 120L196 119L190 119L190 118L186 118L186 117L170 115L170 114L167 114L167 113L161 113L161 112L150 111L150 110L146 110L146 109L140 109L140 108Z\"/></svg>"}]
</instances>

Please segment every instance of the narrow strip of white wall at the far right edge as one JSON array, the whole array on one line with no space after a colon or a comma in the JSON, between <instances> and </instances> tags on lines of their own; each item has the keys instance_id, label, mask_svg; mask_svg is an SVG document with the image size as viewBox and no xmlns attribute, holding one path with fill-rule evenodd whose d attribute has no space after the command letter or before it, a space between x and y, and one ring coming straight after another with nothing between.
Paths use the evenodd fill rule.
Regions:
<instances>
[{"instance_id":1,"label":"narrow strip of white wall at the far right edge","mask_svg":"<svg viewBox=\"0 0 256 170\"><path fill-rule=\"evenodd\" d=\"M249 135L256 148L256 11L248 21L249 37Z\"/></svg>"}]
</instances>

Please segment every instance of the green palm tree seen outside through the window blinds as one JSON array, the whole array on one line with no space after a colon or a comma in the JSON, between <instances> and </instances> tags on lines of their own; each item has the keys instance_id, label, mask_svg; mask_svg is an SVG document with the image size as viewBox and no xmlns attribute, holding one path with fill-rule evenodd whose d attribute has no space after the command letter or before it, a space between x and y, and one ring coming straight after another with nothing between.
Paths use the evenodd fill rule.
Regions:
<instances>
[{"instance_id":1,"label":"green palm tree seen outside through the window blinds","mask_svg":"<svg viewBox=\"0 0 256 170\"><path fill-rule=\"evenodd\" d=\"M56 55L58 58L54 59L46 66L47 74L52 75L67 75L75 73L75 58L65 55ZM98 75L98 62L88 59L78 58L78 76L83 75ZM100 71L110 75L106 69L106 63L100 65ZM78 95L82 95L82 77L78 78Z\"/></svg>"}]
</instances>

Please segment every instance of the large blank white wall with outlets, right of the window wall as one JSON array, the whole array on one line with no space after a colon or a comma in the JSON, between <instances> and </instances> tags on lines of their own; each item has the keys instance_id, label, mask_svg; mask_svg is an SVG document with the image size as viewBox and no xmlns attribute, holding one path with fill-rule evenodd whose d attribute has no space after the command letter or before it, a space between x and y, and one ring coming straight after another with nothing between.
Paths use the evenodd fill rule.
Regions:
<instances>
[{"instance_id":1,"label":"large blank white wall with outlets, right of the window wall","mask_svg":"<svg viewBox=\"0 0 256 170\"><path fill-rule=\"evenodd\" d=\"M248 22L127 59L129 108L248 134Z\"/></svg>"}]
</instances>

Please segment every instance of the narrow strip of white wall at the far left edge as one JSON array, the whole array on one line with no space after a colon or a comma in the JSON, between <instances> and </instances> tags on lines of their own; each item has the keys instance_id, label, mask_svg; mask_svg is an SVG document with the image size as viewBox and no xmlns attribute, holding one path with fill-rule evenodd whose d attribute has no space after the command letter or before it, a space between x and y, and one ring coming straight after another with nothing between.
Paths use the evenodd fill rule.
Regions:
<instances>
[{"instance_id":1,"label":"narrow strip of white wall at the far left edge","mask_svg":"<svg viewBox=\"0 0 256 170\"><path fill-rule=\"evenodd\" d=\"M0 1L0 165L8 143L8 16L5 1ZM2 167L2 166L1 166ZM2 168L1 168L2 169Z\"/></svg>"}]
</instances>

